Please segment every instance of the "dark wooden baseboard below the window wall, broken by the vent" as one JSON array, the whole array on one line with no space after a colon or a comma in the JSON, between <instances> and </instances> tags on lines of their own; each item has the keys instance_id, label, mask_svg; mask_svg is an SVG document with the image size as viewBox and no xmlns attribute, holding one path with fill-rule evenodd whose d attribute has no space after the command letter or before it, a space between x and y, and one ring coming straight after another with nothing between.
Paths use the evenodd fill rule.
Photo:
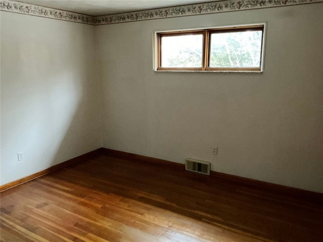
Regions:
<instances>
[{"instance_id":1,"label":"dark wooden baseboard below the window wall, broken by the vent","mask_svg":"<svg viewBox=\"0 0 323 242\"><path fill-rule=\"evenodd\" d=\"M157 159L157 158L148 157L148 156L143 156L143 155L132 154L132 153L124 152L124 151L102 148L101 154L106 155L106 156L115 157L115 158L120 158L120 159L156 163L159 165L165 165L165 166L172 168L172 169L185 170L184 164L180 164L180 163L176 163L176 162L172 162L172 161L168 161L168 160ZM189 172L189 171L187 171L187 172ZM200 174L196 174L196 175L200 175ZM315 192L302 190L302 189L298 189L298 188L292 188L292 187L287 187L287 186L283 186L283 185L267 183L266 181L250 179L250 178L246 178L246 177L226 174L226 173L217 172L217 171L211 171L210 176L216 177L219 179L230 180L230 181L240 183L240 184L244 184L244 185L247 185L248 187L261 188L264 191L274 192L275 194L288 195L288 196L295 197L297 199L301 199L301 200L315 203L315 204L323 204L323 194L322 193L315 193Z\"/></svg>"}]
</instances>

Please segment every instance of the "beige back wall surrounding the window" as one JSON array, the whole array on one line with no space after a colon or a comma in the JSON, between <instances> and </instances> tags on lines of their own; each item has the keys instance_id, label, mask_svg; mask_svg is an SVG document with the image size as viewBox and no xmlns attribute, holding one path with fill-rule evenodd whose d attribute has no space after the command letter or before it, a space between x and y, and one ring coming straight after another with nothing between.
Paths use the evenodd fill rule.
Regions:
<instances>
[{"instance_id":1,"label":"beige back wall surrounding the window","mask_svg":"<svg viewBox=\"0 0 323 242\"><path fill-rule=\"evenodd\" d=\"M311 4L95 26L103 147L323 193L322 12ZM268 24L261 74L152 70L154 30L259 22Z\"/></svg>"}]
</instances>

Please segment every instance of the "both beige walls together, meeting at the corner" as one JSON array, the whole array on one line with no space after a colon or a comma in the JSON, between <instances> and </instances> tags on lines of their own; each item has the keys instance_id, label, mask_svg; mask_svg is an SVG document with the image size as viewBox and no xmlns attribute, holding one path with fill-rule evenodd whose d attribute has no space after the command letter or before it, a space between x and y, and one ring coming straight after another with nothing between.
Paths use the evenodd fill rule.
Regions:
<instances>
[{"instance_id":1,"label":"both beige walls together, meeting at the corner","mask_svg":"<svg viewBox=\"0 0 323 242\"><path fill-rule=\"evenodd\" d=\"M1 184L102 139L105 148L202 159L212 170L323 193L322 11L311 4L95 27L1 12ZM154 30L259 22L268 24L261 74L152 70Z\"/></svg>"}]
</instances>

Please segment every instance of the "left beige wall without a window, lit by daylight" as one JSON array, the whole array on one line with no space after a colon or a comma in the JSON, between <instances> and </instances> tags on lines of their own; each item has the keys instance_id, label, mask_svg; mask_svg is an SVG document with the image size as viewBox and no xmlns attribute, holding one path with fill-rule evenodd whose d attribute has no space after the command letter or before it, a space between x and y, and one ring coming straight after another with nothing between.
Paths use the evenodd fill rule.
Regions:
<instances>
[{"instance_id":1,"label":"left beige wall without a window, lit by daylight","mask_svg":"<svg viewBox=\"0 0 323 242\"><path fill-rule=\"evenodd\" d=\"M94 47L93 26L1 12L2 185L101 147Z\"/></svg>"}]
</instances>

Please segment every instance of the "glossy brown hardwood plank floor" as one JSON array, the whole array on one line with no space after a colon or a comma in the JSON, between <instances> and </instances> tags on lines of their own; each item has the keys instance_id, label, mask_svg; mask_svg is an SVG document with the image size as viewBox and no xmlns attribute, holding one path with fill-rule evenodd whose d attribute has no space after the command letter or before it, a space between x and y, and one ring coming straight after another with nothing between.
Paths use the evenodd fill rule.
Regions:
<instances>
[{"instance_id":1,"label":"glossy brown hardwood plank floor","mask_svg":"<svg viewBox=\"0 0 323 242\"><path fill-rule=\"evenodd\" d=\"M1 241L323 241L323 204L96 155L1 193Z\"/></svg>"}]
</instances>

